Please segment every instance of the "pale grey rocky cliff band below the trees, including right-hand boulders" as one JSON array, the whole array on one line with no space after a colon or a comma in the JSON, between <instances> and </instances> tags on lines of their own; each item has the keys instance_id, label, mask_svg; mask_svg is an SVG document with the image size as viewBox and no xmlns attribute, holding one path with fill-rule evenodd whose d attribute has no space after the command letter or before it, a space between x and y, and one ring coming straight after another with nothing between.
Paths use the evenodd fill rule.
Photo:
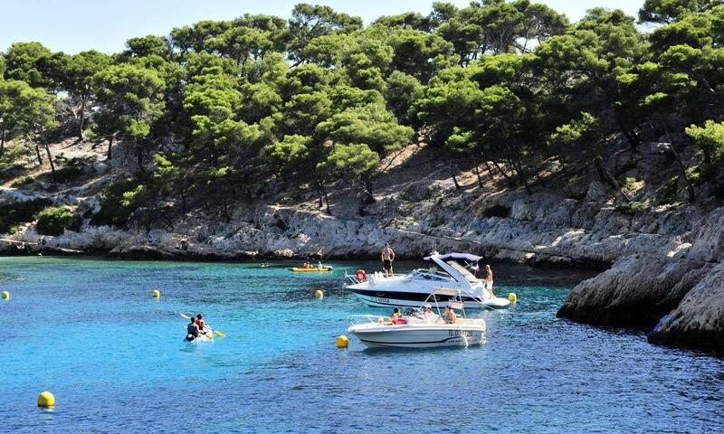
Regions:
<instances>
[{"instance_id":1,"label":"pale grey rocky cliff band below the trees, including right-hand boulders","mask_svg":"<svg viewBox=\"0 0 724 434\"><path fill-rule=\"evenodd\" d=\"M425 153L424 147L411 148L391 162L376 182L376 202L371 204L338 185L330 198L331 213L322 212L311 191L290 192L272 180L266 193L253 203L238 203L224 219L200 209L147 227L95 227L86 220L81 231L57 237L39 236L31 223L5 236L12 241L0 241L0 254L52 249L125 258L359 259L376 257L390 241L402 258L420 258L436 249L528 263L614 264L576 287L559 315L595 324L653 326L673 310L653 333L654 342L721 346L717 336L724 326L724 297L717 296L724 209L711 202L685 203L676 184L679 188L668 193L667 201L661 200L663 191L672 191L665 146L648 144L608 161L639 207L624 202L592 167L566 182L544 177L532 194L510 188L499 175L485 174L480 185L472 171L457 176L457 188L449 168ZM122 170L101 168L99 172L110 174ZM542 169L544 174L557 172L555 164ZM5 186L0 203L43 196L88 215L99 209L100 182L61 193ZM699 306L702 301L709 304ZM709 331L698 335L699 329Z\"/></svg>"}]
</instances>

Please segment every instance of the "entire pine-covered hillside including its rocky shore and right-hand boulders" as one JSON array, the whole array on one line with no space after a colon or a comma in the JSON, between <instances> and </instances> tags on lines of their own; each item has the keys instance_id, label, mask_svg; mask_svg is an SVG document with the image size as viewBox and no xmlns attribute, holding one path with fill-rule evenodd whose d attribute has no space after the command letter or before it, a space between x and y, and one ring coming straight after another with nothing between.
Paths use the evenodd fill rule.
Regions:
<instances>
[{"instance_id":1,"label":"entire pine-covered hillside including its rocky shore and right-hand boulders","mask_svg":"<svg viewBox=\"0 0 724 434\"><path fill-rule=\"evenodd\" d=\"M604 266L559 316L722 349L722 205L721 0L300 4L0 55L3 254Z\"/></svg>"}]
</instances>

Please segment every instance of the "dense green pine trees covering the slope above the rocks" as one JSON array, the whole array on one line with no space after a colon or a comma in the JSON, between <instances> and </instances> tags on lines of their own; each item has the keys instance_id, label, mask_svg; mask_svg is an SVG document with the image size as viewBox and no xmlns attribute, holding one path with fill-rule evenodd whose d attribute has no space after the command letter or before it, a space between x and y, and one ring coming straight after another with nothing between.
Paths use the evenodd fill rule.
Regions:
<instances>
[{"instance_id":1,"label":"dense green pine trees covering the slope above the rocks","mask_svg":"<svg viewBox=\"0 0 724 434\"><path fill-rule=\"evenodd\" d=\"M202 21L112 55L17 42L0 55L0 178L79 179L82 161L49 146L74 138L109 161L116 146L132 156L97 192L92 225L138 223L161 202L143 224L198 209L228 220L271 179L333 213L330 192L349 189L364 209L386 161L424 143L456 186L472 170L480 186L488 174L533 193L595 167L636 212L646 204L605 160L664 137L677 172L658 203L719 202L721 3L647 0L638 21L594 8L578 23L528 0L434 3L368 25L300 4L288 20Z\"/></svg>"}]
</instances>

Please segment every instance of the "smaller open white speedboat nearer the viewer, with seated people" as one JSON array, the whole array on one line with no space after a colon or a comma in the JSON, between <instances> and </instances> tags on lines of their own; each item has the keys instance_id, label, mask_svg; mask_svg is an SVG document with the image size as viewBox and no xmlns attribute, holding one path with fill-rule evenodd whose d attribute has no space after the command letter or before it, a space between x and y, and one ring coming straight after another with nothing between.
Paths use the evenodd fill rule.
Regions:
<instances>
[{"instance_id":1,"label":"smaller open white speedboat nearer the viewer, with seated people","mask_svg":"<svg viewBox=\"0 0 724 434\"><path fill-rule=\"evenodd\" d=\"M441 297L447 297L447 306L462 312L462 317L454 323L445 322L440 315L438 300ZM369 347L428 348L484 342L485 320L465 317L459 289L435 288L424 301L435 304L437 315L425 318L419 310L408 309L395 322L374 315L349 316L348 332Z\"/></svg>"}]
</instances>

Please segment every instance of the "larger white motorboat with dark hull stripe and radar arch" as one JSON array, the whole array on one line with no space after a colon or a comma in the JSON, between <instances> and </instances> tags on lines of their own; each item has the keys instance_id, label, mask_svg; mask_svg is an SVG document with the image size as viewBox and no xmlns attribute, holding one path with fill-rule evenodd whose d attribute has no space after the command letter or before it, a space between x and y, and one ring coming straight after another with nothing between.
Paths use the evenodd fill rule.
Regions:
<instances>
[{"instance_id":1,"label":"larger white motorboat with dark hull stripe and radar arch","mask_svg":"<svg viewBox=\"0 0 724 434\"><path fill-rule=\"evenodd\" d=\"M367 273L360 269L355 275L345 275L350 282L346 288L368 306L373 307L421 307L434 288L452 288L461 291L462 303L467 309L500 309L510 306L510 300L491 297L481 279L476 278L465 265L481 260L470 253L433 253L424 258L430 262L429 269L414 269L412 272L394 277L382 273ZM439 295L437 301L451 297Z\"/></svg>"}]
</instances>

